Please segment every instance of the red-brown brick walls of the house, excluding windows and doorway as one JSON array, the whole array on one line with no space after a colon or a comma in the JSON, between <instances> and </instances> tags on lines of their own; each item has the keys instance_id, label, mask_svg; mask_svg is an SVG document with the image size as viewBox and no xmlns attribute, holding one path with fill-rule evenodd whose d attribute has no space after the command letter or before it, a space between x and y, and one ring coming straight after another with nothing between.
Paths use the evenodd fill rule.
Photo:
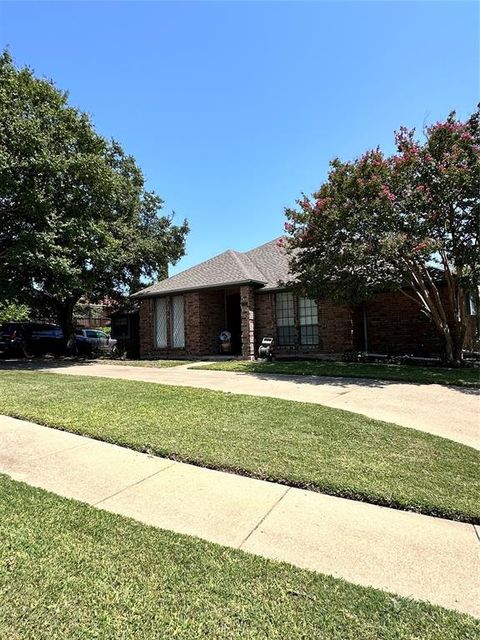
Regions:
<instances>
[{"instance_id":1,"label":"red-brown brick walls of the house, excluding windows and doorway","mask_svg":"<svg viewBox=\"0 0 480 640\"><path fill-rule=\"evenodd\" d=\"M188 357L220 353L219 334L225 329L225 292L223 290L186 293L185 348L156 349L154 298L140 302L140 357ZM243 355L258 353L264 336L276 338L275 294L255 292L242 287L242 347ZM382 293L366 304L368 349L370 352L412 355L435 355L442 344L433 324L413 301L399 292ZM360 305L338 305L323 301L318 304L320 344L277 348L279 355L315 357L341 355L351 349L364 349L363 315ZM251 323L254 331L251 332ZM473 343L475 318L471 318L470 338Z\"/></svg>"}]
</instances>

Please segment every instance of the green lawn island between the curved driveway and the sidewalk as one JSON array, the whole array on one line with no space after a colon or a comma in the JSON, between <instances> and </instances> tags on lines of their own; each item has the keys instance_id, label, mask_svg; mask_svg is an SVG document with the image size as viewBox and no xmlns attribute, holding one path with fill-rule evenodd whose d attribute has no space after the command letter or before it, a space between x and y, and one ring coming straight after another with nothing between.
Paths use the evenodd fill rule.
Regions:
<instances>
[{"instance_id":1,"label":"green lawn island between the curved driveway and the sidewalk","mask_svg":"<svg viewBox=\"0 0 480 640\"><path fill-rule=\"evenodd\" d=\"M480 523L480 453L348 411L218 391L2 372L0 414L139 451Z\"/></svg>"}]
</instances>

